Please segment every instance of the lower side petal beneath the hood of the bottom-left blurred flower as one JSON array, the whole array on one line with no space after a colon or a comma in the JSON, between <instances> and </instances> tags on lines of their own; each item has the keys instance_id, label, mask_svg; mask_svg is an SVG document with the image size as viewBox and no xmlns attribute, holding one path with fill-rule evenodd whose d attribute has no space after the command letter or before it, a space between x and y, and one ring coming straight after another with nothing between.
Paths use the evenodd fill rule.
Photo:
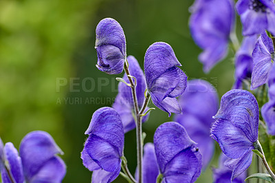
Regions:
<instances>
[{"instance_id":1,"label":"lower side petal beneath the hood of the bottom-left blurred flower","mask_svg":"<svg viewBox=\"0 0 275 183\"><path fill-rule=\"evenodd\" d=\"M55 156L45 162L31 182L62 182L66 174L66 165L61 158Z\"/></svg>"}]
</instances>

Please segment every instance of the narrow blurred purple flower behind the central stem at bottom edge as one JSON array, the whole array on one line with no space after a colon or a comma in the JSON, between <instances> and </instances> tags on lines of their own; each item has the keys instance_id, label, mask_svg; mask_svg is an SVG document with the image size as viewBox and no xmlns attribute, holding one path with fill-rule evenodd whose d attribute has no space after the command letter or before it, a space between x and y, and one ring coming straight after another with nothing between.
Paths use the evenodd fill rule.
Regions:
<instances>
[{"instance_id":1,"label":"narrow blurred purple flower behind the central stem at bottom edge","mask_svg":"<svg viewBox=\"0 0 275 183\"><path fill-rule=\"evenodd\" d=\"M157 180L159 175L159 167L157 165L157 157L155 156L155 147L152 143L146 143L144 145L143 155L143 182L151 183ZM138 181L138 170L135 170L135 180Z\"/></svg>"}]
</instances>

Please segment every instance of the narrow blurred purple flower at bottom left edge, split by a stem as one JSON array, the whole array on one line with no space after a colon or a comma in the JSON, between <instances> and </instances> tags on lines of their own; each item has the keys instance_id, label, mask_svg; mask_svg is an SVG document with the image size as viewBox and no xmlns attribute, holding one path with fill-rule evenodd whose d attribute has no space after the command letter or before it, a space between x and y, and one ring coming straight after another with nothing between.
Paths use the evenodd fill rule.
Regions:
<instances>
[{"instance_id":1,"label":"narrow blurred purple flower at bottom left edge, split by a stem","mask_svg":"<svg viewBox=\"0 0 275 183\"><path fill-rule=\"evenodd\" d=\"M23 167L21 158L19 157L17 149L14 148L14 145L12 142L8 142L5 144L4 147L5 152L5 158L8 160L8 163L10 165L10 170L12 172L12 177L17 183L23 183L24 182L24 175L23 175ZM10 177L8 176L7 171L5 171L5 168L2 167L1 169L1 177L3 180L3 183L11 183Z\"/></svg>"}]
</instances>

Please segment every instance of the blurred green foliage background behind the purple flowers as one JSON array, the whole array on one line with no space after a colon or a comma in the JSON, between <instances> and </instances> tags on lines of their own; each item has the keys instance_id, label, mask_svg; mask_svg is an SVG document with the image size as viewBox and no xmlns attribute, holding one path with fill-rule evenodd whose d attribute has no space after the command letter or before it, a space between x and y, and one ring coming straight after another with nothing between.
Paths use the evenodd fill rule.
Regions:
<instances>
[{"instance_id":1,"label":"blurred green foliage background behind the purple flowers","mask_svg":"<svg viewBox=\"0 0 275 183\"><path fill-rule=\"evenodd\" d=\"M111 106L118 93L116 76L96 69L95 30L105 17L124 29L127 54L143 67L149 45L169 43L189 79L208 80L222 96L234 82L232 50L209 74L197 60L201 52L190 36L192 0L0 0L0 136L19 149L30 131L50 133L67 164L63 182L90 182L80 152L91 115ZM120 74L122 76L122 74ZM152 106L152 104L151 104ZM159 109L143 126L146 142L168 114ZM135 171L135 131L125 135L129 169ZM217 156L212 165L217 166ZM115 182L124 182L121 177ZM212 182L209 167L197 182Z\"/></svg>"}]
</instances>

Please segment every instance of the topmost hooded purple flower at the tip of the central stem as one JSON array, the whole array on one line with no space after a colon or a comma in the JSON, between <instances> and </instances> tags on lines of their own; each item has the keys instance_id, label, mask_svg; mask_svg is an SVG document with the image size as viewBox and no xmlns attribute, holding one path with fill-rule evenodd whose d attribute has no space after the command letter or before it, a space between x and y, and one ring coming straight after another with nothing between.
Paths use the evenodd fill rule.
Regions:
<instances>
[{"instance_id":1,"label":"topmost hooded purple flower at the tip of the central stem","mask_svg":"<svg viewBox=\"0 0 275 183\"><path fill-rule=\"evenodd\" d=\"M126 39L120 23L102 19L96 27L96 67L107 74L120 74L126 57Z\"/></svg>"}]
</instances>

